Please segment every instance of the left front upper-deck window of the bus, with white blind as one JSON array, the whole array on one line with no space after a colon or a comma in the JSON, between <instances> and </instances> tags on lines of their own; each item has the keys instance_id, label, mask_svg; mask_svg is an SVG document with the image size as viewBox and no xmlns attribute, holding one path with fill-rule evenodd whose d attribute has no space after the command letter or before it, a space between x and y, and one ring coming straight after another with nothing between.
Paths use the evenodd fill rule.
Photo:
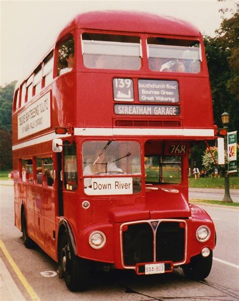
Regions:
<instances>
[{"instance_id":1,"label":"left front upper-deck window of the bus, with white blind","mask_svg":"<svg viewBox=\"0 0 239 301\"><path fill-rule=\"evenodd\" d=\"M93 69L139 70L142 47L137 36L83 33L84 65Z\"/></svg>"}]
</instances>

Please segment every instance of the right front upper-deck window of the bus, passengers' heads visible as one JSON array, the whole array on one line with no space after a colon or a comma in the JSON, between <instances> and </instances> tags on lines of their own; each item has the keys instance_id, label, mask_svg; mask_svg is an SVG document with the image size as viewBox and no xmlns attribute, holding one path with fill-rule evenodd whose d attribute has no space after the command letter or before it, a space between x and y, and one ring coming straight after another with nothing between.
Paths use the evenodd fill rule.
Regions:
<instances>
[{"instance_id":1,"label":"right front upper-deck window of the bus, passengers' heads visible","mask_svg":"<svg viewBox=\"0 0 239 301\"><path fill-rule=\"evenodd\" d=\"M149 68L152 71L199 73L201 48L198 41L149 37Z\"/></svg>"}]
</instances>

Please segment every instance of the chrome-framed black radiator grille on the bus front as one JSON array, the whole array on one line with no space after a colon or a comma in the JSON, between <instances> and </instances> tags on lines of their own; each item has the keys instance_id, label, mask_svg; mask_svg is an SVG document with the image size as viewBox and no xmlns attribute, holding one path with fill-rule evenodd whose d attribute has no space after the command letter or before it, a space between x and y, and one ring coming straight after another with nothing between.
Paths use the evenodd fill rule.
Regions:
<instances>
[{"instance_id":1,"label":"chrome-framed black radiator grille on the bus front","mask_svg":"<svg viewBox=\"0 0 239 301\"><path fill-rule=\"evenodd\" d=\"M183 263L186 258L187 223L184 220L125 223L121 229L125 267L147 262Z\"/></svg>"}]
</instances>

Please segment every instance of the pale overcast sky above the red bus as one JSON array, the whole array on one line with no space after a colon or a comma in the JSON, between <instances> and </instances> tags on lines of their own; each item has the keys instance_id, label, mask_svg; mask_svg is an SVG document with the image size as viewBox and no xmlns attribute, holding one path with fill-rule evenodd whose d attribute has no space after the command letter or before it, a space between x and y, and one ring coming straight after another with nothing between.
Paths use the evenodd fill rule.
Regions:
<instances>
[{"instance_id":1,"label":"pale overcast sky above the red bus","mask_svg":"<svg viewBox=\"0 0 239 301\"><path fill-rule=\"evenodd\" d=\"M1 82L28 75L77 14L95 10L137 10L184 19L203 34L220 26L216 0L167 1L1 1Z\"/></svg>"}]
</instances>

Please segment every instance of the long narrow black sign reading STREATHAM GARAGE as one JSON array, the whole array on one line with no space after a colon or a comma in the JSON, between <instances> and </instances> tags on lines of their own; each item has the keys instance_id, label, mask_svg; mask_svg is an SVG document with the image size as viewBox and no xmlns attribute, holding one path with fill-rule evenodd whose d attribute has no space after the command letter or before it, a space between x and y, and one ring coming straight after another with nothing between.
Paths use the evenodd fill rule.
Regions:
<instances>
[{"instance_id":1,"label":"long narrow black sign reading STREATHAM GARAGE","mask_svg":"<svg viewBox=\"0 0 239 301\"><path fill-rule=\"evenodd\" d=\"M180 115L180 107L178 105L115 104L114 113L117 115L178 116Z\"/></svg>"}]
</instances>

